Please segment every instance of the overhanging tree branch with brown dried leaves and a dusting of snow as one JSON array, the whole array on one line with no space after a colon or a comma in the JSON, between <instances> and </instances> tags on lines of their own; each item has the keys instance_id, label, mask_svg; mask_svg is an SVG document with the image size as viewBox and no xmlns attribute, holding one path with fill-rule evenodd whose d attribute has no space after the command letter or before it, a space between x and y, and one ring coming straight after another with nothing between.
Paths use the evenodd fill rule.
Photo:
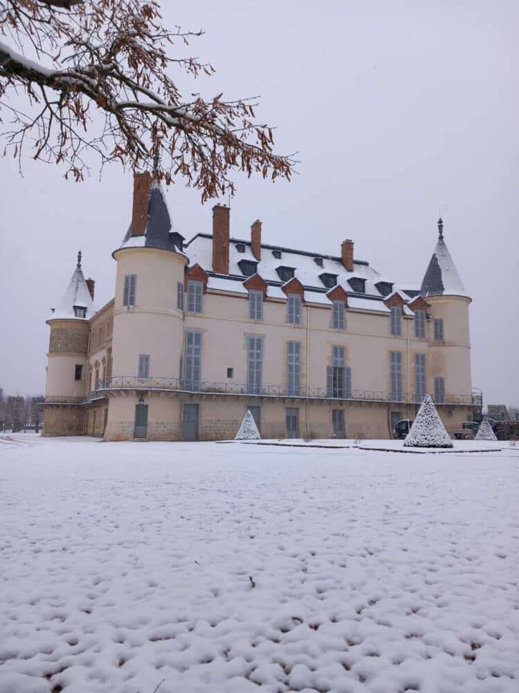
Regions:
<instances>
[{"instance_id":1,"label":"overhanging tree branch with brown dried leaves and a dusting of snow","mask_svg":"<svg viewBox=\"0 0 519 693\"><path fill-rule=\"evenodd\" d=\"M201 33L167 29L156 0L0 0L4 154L21 163L28 144L35 159L63 162L76 180L89 150L101 168L119 161L143 170L158 155L159 178L185 177L202 200L232 194L233 170L290 179L295 162L275 153L272 128L255 119L256 98L185 98L170 76L172 67L212 75L198 58L170 55Z\"/></svg>"}]
</instances>

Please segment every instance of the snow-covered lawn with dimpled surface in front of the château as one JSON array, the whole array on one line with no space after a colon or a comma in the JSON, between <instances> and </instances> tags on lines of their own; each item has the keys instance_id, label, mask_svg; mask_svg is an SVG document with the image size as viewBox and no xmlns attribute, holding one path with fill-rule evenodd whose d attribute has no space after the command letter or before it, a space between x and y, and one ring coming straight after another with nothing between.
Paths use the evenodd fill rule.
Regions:
<instances>
[{"instance_id":1,"label":"snow-covered lawn with dimpled surface in front of the ch\u00e2teau","mask_svg":"<svg viewBox=\"0 0 519 693\"><path fill-rule=\"evenodd\" d=\"M519 448L15 434L0 491L1 693L519 690Z\"/></svg>"}]
</instances>

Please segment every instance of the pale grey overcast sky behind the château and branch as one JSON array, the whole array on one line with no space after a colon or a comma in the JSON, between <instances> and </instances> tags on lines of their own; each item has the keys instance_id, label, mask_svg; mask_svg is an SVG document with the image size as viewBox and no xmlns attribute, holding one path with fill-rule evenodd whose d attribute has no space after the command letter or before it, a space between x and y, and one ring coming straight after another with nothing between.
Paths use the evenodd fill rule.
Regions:
<instances>
[{"instance_id":1,"label":"pale grey overcast sky behind the ch\u00e2teau and branch","mask_svg":"<svg viewBox=\"0 0 519 693\"><path fill-rule=\"evenodd\" d=\"M175 5L173 8L172 5ZM204 94L261 95L293 182L236 176L231 234L355 256L419 286L444 234L471 306L473 385L519 405L519 6L514 1L163 1L165 22L206 30L192 55L217 70ZM186 49L179 49L185 55ZM0 387L43 392L49 309L82 247L96 303L113 296L111 251L131 216L131 174L82 184L56 166L0 159ZM211 207L167 188L174 225L211 231Z\"/></svg>"}]
</instances>

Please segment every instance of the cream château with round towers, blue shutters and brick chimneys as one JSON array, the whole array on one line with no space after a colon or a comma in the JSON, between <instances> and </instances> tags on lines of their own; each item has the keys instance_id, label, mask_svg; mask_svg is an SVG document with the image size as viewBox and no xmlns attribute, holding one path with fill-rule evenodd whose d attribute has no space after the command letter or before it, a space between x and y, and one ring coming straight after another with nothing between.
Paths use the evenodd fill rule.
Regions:
<instances>
[{"instance_id":1,"label":"cream ch\u00e2teau with round towers, blue shutters and brick chimneys","mask_svg":"<svg viewBox=\"0 0 519 693\"><path fill-rule=\"evenodd\" d=\"M447 430L481 410L468 306L438 222L419 288L354 256L230 237L230 209L188 243L161 185L134 178L113 252L115 295L96 310L78 256L51 328L44 435L233 438L251 410L264 438L387 438L430 394Z\"/></svg>"}]
</instances>

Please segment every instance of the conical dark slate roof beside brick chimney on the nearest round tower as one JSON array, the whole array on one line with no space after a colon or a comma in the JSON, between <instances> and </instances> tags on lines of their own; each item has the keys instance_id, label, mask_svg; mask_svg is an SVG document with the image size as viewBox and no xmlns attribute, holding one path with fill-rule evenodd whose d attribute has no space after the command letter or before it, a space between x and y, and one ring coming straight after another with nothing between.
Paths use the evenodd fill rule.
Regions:
<instances>
[{"instance_id":1,"label":"conical dark slate roof beside brick chimney on the nearest round tower","mask_svg":"<svg viewBox=\"0 0 519 693\"><path fill-rule=\"evenodd\" d=\"M120 248L146 247L181 252L183 240L183 236L174 231L162 186L156 179L153 179L149 186L148 216L144 234L132 236L130 222Z\"/></svg>"}]
</instances>

